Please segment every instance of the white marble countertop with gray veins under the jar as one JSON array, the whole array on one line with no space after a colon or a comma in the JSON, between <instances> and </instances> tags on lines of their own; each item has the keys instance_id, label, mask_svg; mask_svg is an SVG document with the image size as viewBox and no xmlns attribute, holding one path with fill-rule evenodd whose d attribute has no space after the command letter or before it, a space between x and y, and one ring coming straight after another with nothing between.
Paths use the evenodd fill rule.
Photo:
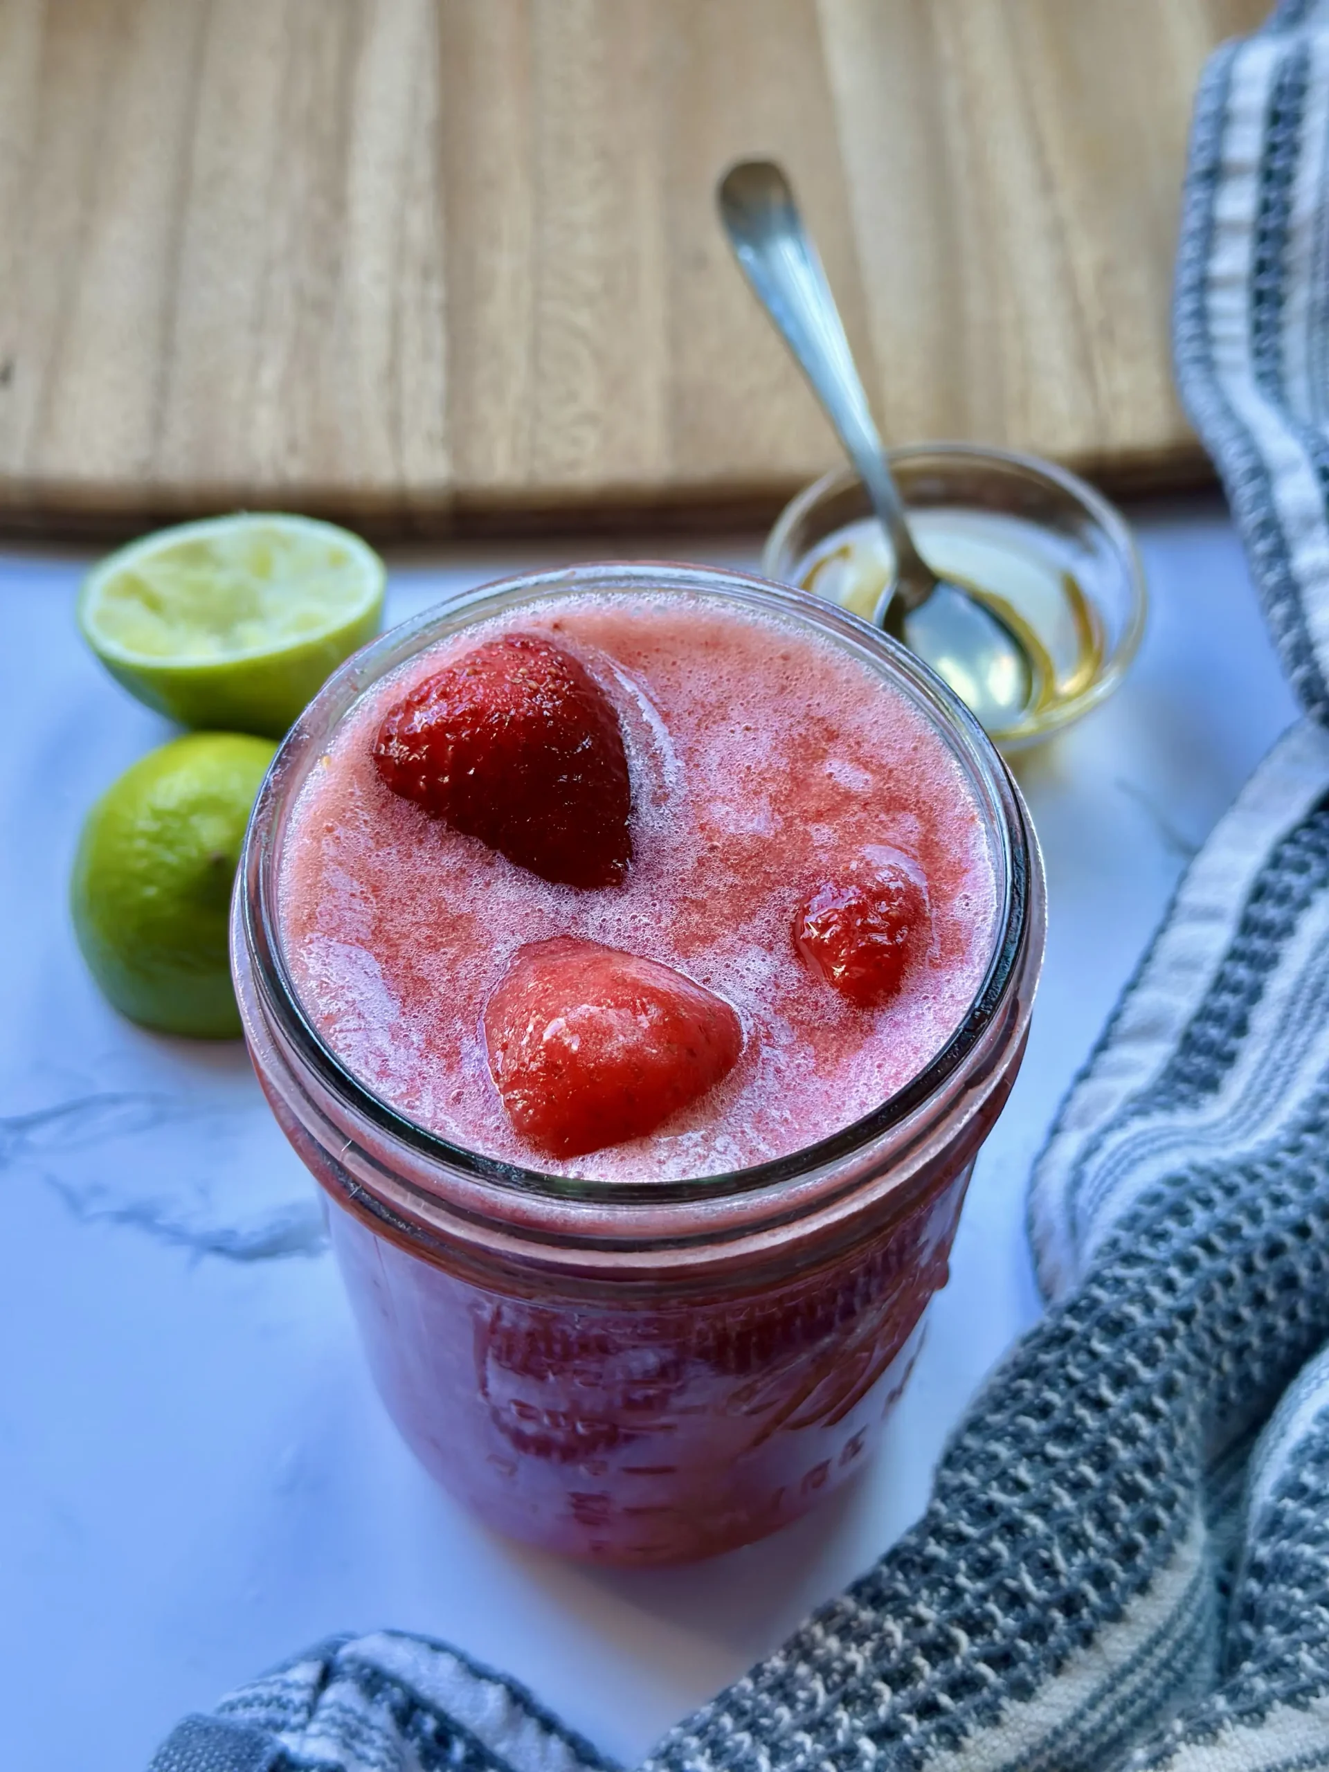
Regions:
<instances>
[{"instance_id":1,"label":"white marble countertop with gray veins under the jar","mask_svg":"<svg viewBox=\"0 0 1329 1772\"><path fill-rule=\"evenodd\" d=\"M184 1712L379 1625L516 1673L633 1761L914 1519L948 1428L1037 1315L1024 1178L1058 1099L1187 854L1294 718L1217 501L1132 516L1152 626L1122 693L1019 764L1047 858L1042 998L884 1453L764 1545L640 1574L500 1542L432 1487L370 1389L312 1184L239 1044L144 1033L97 996L66 913L78 826L168 730L78 641L82 560L0 555L7 1765L144 1772ZM574 555L402 556L388 615Z\"/></svg>"}]
</instances>

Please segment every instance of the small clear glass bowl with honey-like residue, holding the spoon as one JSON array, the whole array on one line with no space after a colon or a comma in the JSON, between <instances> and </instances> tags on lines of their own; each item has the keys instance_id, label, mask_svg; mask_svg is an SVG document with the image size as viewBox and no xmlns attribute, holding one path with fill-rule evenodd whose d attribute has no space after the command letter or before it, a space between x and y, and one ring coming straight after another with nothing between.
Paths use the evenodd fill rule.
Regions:
<instances>
[{"instance_id":1,"label":"small clear glass bowl with honey-like residue, holding the spoon","mask_svg":"<svg viewBox=\"0 0 1329 1772\"><path fill-rule=\"evenodd\" d=\"M1035 455L968 443L914 443L890 452L930 565L999 594L1047 652L1049 689L1014 727L991 737L1021 750L1106 702L1125 675L1145 631L1146 590L1139 555L1122 514L1092 486ZM824 544L847 525L870 521L863 482L835 468L804 487L776 519L762 553L766 578L808 585ZM874 525L861 549L890 578L890 544ZM854 556L858 560L858 556ZM815 571L820 578L826 571ZM992 578L999 583L992 583ZM829 592L868 615L872 587L840 579ZM996 599L994 599L996 601Z\"/></svg>"}]
</instances>

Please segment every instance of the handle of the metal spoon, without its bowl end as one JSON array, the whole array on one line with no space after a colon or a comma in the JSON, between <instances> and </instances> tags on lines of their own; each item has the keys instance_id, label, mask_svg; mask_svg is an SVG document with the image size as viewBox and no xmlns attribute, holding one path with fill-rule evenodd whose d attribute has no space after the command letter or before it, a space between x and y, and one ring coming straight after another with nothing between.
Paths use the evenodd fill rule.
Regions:
<instances>
[{"instance_id":1,"label":"handle of the metal spoon, without its bowl end","mask_svg":"<svg viewBox=\"0 0 1329 1772\"><path fill-rule=\"evenodd\" d=\"M744 159L721 179L718 200L719 220L742 273L812 383L868 489L872 509L886 526L907 602L920 602L936 585L936 572L909 533L840 310L789 179L769 159Z\"/></svg>"}]
</instances>

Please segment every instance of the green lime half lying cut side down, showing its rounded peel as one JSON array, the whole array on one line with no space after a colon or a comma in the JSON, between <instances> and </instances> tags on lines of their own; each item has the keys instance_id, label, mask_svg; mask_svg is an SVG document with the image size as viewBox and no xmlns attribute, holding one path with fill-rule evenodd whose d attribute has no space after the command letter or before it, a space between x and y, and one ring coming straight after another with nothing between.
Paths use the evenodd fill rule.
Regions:
<instances>
[{"instance_id":1,"label":"green lime half lying cut side down, showing its rounded peel","mask_svg":"<svg viewBox=\"0 0 1329 1772\"><path fill-rule=\"evenodd\" d=\"M83 824L71 909L115 1008L163 1033L239 1033L227 923L253 797L276 746L191 732L124 771Z\"/></svg>"}]
</instances>

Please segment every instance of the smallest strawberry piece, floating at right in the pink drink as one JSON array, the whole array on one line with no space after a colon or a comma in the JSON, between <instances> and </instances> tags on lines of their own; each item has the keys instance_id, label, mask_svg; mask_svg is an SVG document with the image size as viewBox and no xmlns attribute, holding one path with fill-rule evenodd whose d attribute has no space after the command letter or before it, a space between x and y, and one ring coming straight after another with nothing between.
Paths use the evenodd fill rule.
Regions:
<instances>
[{"instance_id":1,"label":"smallest strawberry piece, floating at right in the pink drink","mask_svg":"<svg viewBox=\"0 0 1329 1772\"><path fill-rule=\"evenodd\" d=\"M927 888L904 856L822 882L794 916L803 959L859 1008L893 998L930 939Z\"/></svg>"}]
</instances>

